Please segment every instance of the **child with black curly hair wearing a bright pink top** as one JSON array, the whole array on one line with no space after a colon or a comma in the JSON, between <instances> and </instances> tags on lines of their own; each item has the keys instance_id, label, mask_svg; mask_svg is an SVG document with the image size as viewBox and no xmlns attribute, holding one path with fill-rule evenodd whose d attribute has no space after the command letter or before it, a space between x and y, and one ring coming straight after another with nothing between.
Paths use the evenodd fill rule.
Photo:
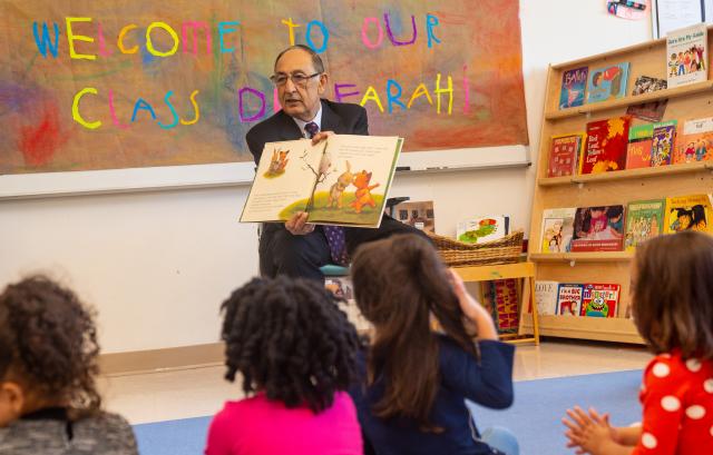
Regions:
<instances>
[{"instance_id":1,"label":"child with black curly hair wearing a bright pink top","mask_svg":"<svg viewBox=\"0 0 713 455\"><path fill-rule=\"evenodd\" d=\"M225 378L247 398L226 402L206 455L361 455L353 380L356 330L324 285L254 278L223 303Z\"/></svg>"}]
</instances>

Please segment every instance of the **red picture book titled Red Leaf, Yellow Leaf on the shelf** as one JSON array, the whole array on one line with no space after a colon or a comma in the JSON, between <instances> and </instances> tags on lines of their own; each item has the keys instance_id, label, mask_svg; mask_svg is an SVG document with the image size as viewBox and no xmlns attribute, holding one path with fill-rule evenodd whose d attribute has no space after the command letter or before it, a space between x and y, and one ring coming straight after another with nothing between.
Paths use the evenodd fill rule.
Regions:
<instances>
[{"instance_id":1,"label":"red picture book titled Red Leaf, Yellow Leaf on the shelf","mask_svg":"<svg viewBox=\"0 0 713 455\"><path fill-rule=\"evenodd\" d=\"M579 174L624 169L631 122L632 118L624 116L587 123L587 140L579 159Z\"/></svg>"}]
</instances>

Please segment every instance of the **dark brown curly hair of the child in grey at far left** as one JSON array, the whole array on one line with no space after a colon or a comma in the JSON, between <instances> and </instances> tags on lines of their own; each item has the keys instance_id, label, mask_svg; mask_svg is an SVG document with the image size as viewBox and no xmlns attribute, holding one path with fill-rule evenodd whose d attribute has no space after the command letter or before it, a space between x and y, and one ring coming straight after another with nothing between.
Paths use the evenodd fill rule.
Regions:
<instances>
[{"instance_id":1,"label":"dark brown curly hair of the child in grey at far left","mask_svg":"<svg viewBox=\"0 0 713 455\"><path fill-rule=\"evenodd\" d=\"M97 412L101 398L94 314L45 276L9 285L0 295L0 380L16 380L74 417Z\"/></svg>"}]
</instances>

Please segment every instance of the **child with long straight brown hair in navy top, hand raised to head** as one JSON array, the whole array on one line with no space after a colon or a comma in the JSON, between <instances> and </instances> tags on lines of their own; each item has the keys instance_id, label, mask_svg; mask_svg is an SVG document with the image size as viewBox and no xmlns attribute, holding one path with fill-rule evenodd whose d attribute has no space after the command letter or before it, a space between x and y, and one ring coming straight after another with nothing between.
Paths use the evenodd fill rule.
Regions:
<instances>
[{"instance_id":1,"label":"child with long straight brown hair in navy top, hand raised to head","mask_svg":"<svg viewBox=\"0 0 713 455\"><path fill-rule=\"evenodd\" d=\"M351 394L367 453L517 455L505 428L478 431L465 400L512 403L514 347L498 342L488 311L420 236L360 247L356 304L374 326Z\"/></svg>"}]
</instances>

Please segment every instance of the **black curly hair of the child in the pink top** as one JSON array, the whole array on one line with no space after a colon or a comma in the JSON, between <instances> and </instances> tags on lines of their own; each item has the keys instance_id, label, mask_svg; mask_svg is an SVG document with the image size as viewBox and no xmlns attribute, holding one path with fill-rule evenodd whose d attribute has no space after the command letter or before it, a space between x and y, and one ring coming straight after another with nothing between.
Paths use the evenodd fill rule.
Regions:
<instances>
[{"instance_id":1,"label":"black curly hair of the child in the pink top","mask_svg":"<svg viewBox=\"0 0 713 455\"><path fill-rule=\"evenodd\" d=\"M243 390L265 392L286 407L329 408L355 373L360 346L336 298L318 281L254 278L233 291L225 315L225 378L243 375Z\"/></svg>"}]
</instances>

